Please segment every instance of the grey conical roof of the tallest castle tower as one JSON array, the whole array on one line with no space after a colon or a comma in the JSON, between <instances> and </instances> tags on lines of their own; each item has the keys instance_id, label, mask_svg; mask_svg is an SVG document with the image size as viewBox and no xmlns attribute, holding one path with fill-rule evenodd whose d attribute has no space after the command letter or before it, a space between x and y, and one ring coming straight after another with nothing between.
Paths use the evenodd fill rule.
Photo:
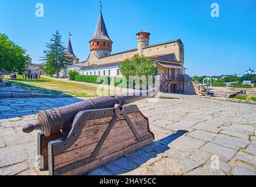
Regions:
<instances>
[{"instance_id":1,"label":"grey conical roof of the tallest castle tower","mask_svg":"<svg viewBox=\"0 0 256 187\"><path fill-rule=\"evenodd\" d=\"M102 16L102 13L99 14L98 23L94 32L94 37L91 40L108 40L109 38L108 31L106 30L106 25Z\"/></svg>"}]
</instances>

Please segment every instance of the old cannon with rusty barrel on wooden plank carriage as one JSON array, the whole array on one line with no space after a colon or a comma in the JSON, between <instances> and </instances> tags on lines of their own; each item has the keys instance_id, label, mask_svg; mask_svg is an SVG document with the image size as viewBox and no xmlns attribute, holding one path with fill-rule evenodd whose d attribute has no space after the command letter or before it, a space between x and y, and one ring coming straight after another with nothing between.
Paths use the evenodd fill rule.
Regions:
<instances>
[{"instance_id":1,"label":"old cannon with rusty barrel on wooden plank carriage","mask_svg":"<svg viewBox=\"0 0 256 187\"><path fill-rule=\"evenodd\" d=\"M154 90L132 95L87 99L40 111L37 122L23 128L38 134L39 169L50 175L83 175L153 143L147 117L136 105Z\"/></svg>"}]
</instances>

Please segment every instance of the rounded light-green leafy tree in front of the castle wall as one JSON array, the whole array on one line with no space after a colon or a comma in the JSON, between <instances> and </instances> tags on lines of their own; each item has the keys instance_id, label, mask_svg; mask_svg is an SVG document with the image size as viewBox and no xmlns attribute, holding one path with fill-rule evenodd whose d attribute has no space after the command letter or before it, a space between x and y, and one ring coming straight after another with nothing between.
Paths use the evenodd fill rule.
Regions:
<instances>
[{"instance_id":1,"label":"rounded light-green leafy tree in front of the castle wall","mask_svg":"<svg viewBox=\"0 0 256 187\"><path fill-rule=\"evenodd\" d=\"M140 56L139 54L135 54L132 59L124 60L122 65L119 66L119 70L127 79L130 75L155 76L158 73L157 65L153 64L149 57Z\"/></svg>"}]
</instances>

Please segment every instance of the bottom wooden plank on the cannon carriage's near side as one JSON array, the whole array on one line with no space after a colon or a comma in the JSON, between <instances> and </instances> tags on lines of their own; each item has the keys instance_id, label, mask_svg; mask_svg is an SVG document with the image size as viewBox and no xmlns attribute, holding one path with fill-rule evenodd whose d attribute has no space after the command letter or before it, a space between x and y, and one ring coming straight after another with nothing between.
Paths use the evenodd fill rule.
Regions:
<instances>
[{"instance_id":1,"label":"bottom wooden plank on the cannon carriage's near side","mask_svg":"<svg viewBox=\"0 0 256 187\"><path fill-rule=\"evenodd\" d=\"M118 158L123 157L124 155L133 153L134 151L139 150L140 148L148 146L151 143L153 143L153 138L148 138L147 140L141 141L139 143L135 143L132 146L123 148L122 150L116 151L113 154L106 155L103 158L99 158L89 164L83 165L82 167L69 171L63 175L84 175L88 172L94 171L94 169L99 168L102 165L115 161Z\"/></svg>"}]
</instances>

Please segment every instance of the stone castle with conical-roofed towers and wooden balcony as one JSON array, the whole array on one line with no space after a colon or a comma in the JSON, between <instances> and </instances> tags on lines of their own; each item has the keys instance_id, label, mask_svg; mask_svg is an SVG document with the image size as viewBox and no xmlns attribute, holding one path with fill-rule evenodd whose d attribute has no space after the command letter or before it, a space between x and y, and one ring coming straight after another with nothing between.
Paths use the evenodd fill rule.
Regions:
<instances>
[{"instance_id":1,"label":"stone castle with conical-roofed towers and wooden balcony","mask_svg":"<svg viewBox=\"0 0 256 187\"><path fill-rule=\"evenodd\" d=\"M160 90L168 93L195 93L193 80L185 74L184 44L180 39L150 45L151 34L141 30L136 34L137 48L112 54L113 41L106 29L102 11L96 24L94 36L89 41L90 54L87 60L79 63L68 40L66 54L71 62L61 77L67 77L68 70L77 70L81 75L122 76L119 66L134 54L149 57L158 67Z\"/></svg>"}]
</instances>

